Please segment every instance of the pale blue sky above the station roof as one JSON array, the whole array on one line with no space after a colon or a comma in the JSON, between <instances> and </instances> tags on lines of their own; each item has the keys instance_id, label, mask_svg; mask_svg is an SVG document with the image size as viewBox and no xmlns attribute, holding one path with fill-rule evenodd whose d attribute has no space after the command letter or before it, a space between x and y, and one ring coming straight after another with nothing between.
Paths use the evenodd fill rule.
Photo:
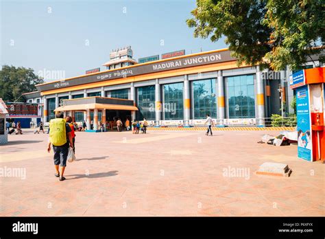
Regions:
<instances>
[{"instance_id":1,"label":"pale blue sky above the station roof","mask_svg":"<svg viewBox=\"0 0 325 239\"><path fill-rule=\"evenodd\" d=\"M194 8L194 0L1 0L1 65L64 71L68 78L104 70L110 51L126 45L136 60L178 49L191 54L201 47L226 47L223 39L193 37L185 21Z\"/></svg>"}]
</instances>

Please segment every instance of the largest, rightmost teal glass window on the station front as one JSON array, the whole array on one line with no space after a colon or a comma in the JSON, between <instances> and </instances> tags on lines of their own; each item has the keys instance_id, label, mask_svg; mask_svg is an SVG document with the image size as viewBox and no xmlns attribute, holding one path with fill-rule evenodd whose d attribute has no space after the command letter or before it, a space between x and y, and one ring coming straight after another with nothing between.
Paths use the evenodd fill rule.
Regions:
<instances>
[{"instance_id":1,"label":"largest, rightmost teal glass window on the station front","mask_svg":"<svg viewBox=\"0 0 325 239\"><path fill-rule=\"evenodd\" d=\"M226 80L229 118L255 117L254 76L235 76Z\"/></svg>"}]
</instances>

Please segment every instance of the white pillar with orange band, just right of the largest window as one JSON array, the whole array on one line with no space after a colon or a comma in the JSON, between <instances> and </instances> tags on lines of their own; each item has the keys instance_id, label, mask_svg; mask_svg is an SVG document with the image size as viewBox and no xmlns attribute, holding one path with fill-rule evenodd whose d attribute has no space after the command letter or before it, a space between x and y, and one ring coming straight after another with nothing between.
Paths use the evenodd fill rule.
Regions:
<instances>
[{"instance_id":1,"label":"white pillar with orange band, just right of the largest window","mask_svg":"<svg viewBox=\"0 0 325 239\"><path fill-rule=\"evenodd\" d=\"M261 77L260 67L256 66L256 125L265 126L264 82Z\"/></svg>"}]
</instances>

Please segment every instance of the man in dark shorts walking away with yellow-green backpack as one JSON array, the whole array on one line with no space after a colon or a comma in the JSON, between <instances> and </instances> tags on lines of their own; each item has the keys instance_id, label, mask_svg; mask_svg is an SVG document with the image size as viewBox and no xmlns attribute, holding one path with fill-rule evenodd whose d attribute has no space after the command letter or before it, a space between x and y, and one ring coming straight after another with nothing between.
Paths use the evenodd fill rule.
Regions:
<instances>
[{"instance_id":1,"label":"man in dark shorts walking away with yellow-green backpack","mask_svg":"<svg viewBox=\"0 0 325 239\"><path fill-rule=\"evenodd\" d=\"M63 113L57 113L56 119L49 122L49 145L47 152L51 151L51 144L54 152L54 166L56 167L56 177L60 181L64 181L63 177L65 167L67 166L67 157L69 146L73 148L73 141L71 135L71 128L69 124L63 119ZM59 172L61 166L61 172Z\"/></svg>"}]
</instances>

